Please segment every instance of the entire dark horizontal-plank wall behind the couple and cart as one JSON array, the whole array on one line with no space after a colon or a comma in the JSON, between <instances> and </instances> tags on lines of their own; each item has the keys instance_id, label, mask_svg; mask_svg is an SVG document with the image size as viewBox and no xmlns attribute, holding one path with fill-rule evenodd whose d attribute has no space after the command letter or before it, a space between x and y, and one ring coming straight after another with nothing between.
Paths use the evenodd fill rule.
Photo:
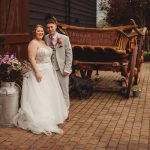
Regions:
<instances>
[{"instance_id":1,"label":"entire dark horizontal-plank wall behind the couple and cart","mask_svg":"<svg viewBox=\"0 0 150 150\"><path fill-rule=\"evenodd\" d=\"M48 16L71 25L96 27L96 0L29 0L29 30Z\"/></svg>"}]
</instances>

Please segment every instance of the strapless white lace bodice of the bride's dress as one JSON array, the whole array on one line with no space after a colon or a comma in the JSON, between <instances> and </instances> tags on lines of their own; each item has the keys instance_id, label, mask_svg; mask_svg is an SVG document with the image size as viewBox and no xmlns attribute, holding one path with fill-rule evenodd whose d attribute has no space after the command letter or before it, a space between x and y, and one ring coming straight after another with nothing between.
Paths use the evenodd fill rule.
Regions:
<instances>
[{"instance_id":1,"label":"strapless white lace bodice of the bride's dress","mask_svg":"<svg viewBox=\"0 0 150 150\"><path fill-rule=\"evenodd\" d=\"M37 63L49 63L51 62L52 49L50 47L39 47L36 54Z\"/></svg>"}]
</instances>

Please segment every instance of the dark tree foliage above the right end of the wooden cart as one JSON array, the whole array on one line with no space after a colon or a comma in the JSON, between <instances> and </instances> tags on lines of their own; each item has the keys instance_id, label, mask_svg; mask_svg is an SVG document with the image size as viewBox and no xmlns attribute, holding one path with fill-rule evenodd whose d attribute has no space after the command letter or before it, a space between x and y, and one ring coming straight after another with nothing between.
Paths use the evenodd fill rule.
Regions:
<instances>
[{"instance_id":1,"label":"dark tree foliage above the right end of the wooden cart","mask_svg":"<svg viewBox=\"0 0 150 150\"><path fill-rule=\"evenodd\" d=\"M132 18L140 27L150 27L149 0L100 0L99 8L107 12L107 22L112 25L127 24Z\"/></svg>"}]
</instances>

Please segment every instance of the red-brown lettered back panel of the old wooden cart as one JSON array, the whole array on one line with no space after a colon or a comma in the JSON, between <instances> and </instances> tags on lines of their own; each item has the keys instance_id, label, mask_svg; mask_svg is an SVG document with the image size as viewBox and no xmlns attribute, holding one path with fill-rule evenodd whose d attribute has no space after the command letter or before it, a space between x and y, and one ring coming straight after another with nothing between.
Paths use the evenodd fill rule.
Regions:
<instances>
[{"instance_id":1,"label":"red-brown lettered back panel of the old wooden cart","mask_svg":"<svg viewBox=\"0 0 150 150\"><path fill-rule=\"evenodd\" d=\"M67 34L73 45L114 46L118 39L116 31L68 29Z\"/></svg>"}]
</instances>

